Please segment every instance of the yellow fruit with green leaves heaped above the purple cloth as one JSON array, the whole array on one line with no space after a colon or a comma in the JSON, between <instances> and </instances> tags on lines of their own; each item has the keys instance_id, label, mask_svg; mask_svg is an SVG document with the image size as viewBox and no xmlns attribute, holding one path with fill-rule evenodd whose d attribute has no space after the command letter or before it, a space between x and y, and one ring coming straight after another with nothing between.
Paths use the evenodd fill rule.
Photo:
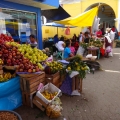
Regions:
<instances>
[{"instance_id":1,"label":"yellow fruit with green leaves heaped above the purple cloth","mask_svg":"<svg viewBox=\"0 0 120 120\"><path fill-rule=\"evenodd\" d=\"M89 67L81 61L81 56L75 56L70 60L70 63L67 65L67 70L69 74L71 74L72 71L77 71L79 73L80 78L85 78L86 71L89 70Z\"/></svg>"}]
</instances>

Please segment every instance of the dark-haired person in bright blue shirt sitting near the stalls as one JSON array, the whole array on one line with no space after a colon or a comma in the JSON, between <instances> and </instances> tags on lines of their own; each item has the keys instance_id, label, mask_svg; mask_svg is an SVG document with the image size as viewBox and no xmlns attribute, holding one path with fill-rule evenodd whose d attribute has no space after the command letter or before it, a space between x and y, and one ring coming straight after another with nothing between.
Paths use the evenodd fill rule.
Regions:
<instances>
[{"instance_id":1,"label":"dark-haired person in bright blue shirt sitting near the stalls","mask_svg":"<svg viewBox=\"0 0 120 120\"><path fill-rule=\"evenodd\" d=\"M74 56L70 50L70 46L71 46L70 40L66 40L66 47L64 49L64 59Z\"/></svg>"}]
</instances>

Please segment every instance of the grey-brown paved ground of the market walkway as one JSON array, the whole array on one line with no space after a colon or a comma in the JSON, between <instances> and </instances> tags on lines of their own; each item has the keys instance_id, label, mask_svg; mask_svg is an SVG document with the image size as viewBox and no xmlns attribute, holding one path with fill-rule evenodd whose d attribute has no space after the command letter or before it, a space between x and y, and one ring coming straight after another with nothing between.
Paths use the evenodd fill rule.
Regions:
<instances>
[{"instance_id":1,"label":"grey-brown paved ground of the market walkway","mask_svg":"<svg viewBox=\"0 0 120 120\"><path fill-rule=\"evenodd\" d=\"M120 49L114 57L99 60L106 71L88 74L83 81L83 94L77 97L63 95L63 115L54 120L120 120ZM39 109L22 106L16 110L23 120L50 120L35 118Z\"/></svg>"}]
</instances>

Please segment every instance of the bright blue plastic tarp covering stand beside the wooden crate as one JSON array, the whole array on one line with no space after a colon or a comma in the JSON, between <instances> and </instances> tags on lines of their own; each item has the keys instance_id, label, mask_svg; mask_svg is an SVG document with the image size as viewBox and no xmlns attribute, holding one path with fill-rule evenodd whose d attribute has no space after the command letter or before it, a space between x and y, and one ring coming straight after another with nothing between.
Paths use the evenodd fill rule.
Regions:
<instances>
[{"instance_id":1,"label":"bright blue plastic tarp covering stand beside the wooden crate","mask_svg":"<svg viewBox=\"0 0 120 120\"><path fill-rule=\"evenodd\" d=\"M0 83L0 110L14 110L22 105L20 78Z\"/></svg>"}]
</instances>

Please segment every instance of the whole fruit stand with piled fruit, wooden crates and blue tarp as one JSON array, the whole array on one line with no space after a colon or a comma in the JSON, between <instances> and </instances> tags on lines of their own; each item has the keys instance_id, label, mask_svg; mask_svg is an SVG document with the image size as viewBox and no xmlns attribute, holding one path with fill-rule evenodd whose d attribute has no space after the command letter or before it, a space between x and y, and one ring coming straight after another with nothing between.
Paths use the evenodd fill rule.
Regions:
<instances>
[{"instance_id":1,"label":"whole fruit stand with piled fruit, wooden crates and blue tarp","mask_svg":"<svg viewBox=\"0 0 120 120\"><path fill-rule=\"evenodd\" d=\"M88 68L81 57L75 56L65 65L49 61L41 50L16 43L4 34L0 38L0 110L13 110L22 104L32 108L36 105L46 110L48 117L59 117L61 86L73 71L77 72L82 92L82 79Z\"/></svg>"}]
</instances>

